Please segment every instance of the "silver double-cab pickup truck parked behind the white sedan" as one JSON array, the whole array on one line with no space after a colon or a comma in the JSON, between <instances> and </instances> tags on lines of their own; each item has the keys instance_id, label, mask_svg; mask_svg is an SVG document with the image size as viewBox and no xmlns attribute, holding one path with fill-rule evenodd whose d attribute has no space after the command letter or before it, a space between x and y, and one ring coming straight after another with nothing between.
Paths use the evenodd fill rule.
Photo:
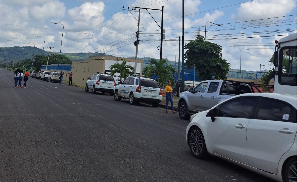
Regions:
<instances>
[{"instance_id":1,"label":"silver double-cab pickup truck parked behind the white sedan","mask_svg":"<svg viewBox=\"0 0 297 182\"><path fill-rule=\"evenodd\" d=\"M178 114L181 119L189 119L190 114L205 111L214 105L239 94L253 93L254 88L247 82L231 80L208 80L195 88L182 92L178 98Z\"/></svg>"}]
</instances>

